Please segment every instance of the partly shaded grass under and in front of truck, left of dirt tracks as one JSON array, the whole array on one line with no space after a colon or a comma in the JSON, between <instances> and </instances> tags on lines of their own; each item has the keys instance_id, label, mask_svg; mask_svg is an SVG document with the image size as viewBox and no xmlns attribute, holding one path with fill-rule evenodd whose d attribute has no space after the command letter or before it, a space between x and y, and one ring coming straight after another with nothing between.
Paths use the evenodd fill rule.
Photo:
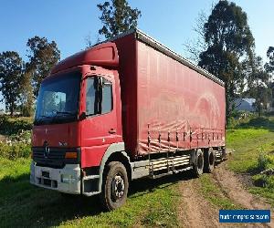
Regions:
<instances>
[{"instance_id":1,"label":"partly shaded grass under and in front of truck, left of dirt tracks","mask_svg":"<svg viewBox=\"0 0 274 228\"><path fill-rule=\"evenodd\" d=\"M101 212L96 197L62 197L29 184L29 159L0 158L0 227L177 227L178 189L140 180L126 204Z\"/></svg>"}]
</instances>

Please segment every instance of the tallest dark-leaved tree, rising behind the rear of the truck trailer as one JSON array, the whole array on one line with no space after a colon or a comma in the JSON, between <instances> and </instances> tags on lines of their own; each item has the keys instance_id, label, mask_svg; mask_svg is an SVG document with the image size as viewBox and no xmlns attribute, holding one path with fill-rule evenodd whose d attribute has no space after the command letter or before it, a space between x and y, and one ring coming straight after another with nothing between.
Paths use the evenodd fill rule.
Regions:
<instances>
[{"instance_id":1,"label":"tallest dark-leaved tree, rising behind the rear of the truck trailer","mask_svg":"<svg viewBox=\"0 0 274 228\"><path fill-rule=\"evenodd\" d=\"M252 55L254 38L247 14L227 0L214 6L204 28L207 49L200 54L199 66L226 83L228 119L237 92L244 88L242 59Z\"/></svg>"}]
</instances>

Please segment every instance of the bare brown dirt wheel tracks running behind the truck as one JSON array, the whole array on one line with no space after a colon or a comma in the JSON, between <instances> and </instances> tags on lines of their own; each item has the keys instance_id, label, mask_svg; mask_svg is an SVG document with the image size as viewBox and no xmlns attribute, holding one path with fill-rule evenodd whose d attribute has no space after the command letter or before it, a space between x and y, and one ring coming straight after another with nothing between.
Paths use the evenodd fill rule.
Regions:
<instances>
[{"instance_id":1,"label":"bare brown dirt wheel tracks running behind the truck","mask_svg":"<svg viewBox=\"0 0 274 228\"><path fill-rule=\"evenodd\" d=\"M226 162L219 164L212 174L212 181L232 202L245 209L269 209L262 199L249 193L239 181L237 174L227 171ZM179 219L182 227L274 227L274 216L271 212L269 224L225 224L218 223L218 210L215 205L205 200L199 192L199 180L192 179L180 182L182 202L180 202Z\"/></svg>"}]
</instances>

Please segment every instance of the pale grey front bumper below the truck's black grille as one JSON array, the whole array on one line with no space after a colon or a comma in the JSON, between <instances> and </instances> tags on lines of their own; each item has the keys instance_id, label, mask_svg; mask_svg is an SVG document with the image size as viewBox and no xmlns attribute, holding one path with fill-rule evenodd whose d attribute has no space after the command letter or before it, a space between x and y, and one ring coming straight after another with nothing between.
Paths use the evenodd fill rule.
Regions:
<instances>
[{"instance_id":1,"label":"pale grey front bumper below the truck's black grille","mask_svg":"<svg viewBox=\"0 0 274 228\"><path fill-rule=\"evenodd\" d=\"M30 183L59 192L80 194L79 164L67 164L63 169L54 169L37 166L32 161L30 165Z\"/></svg>"}]
</instances>

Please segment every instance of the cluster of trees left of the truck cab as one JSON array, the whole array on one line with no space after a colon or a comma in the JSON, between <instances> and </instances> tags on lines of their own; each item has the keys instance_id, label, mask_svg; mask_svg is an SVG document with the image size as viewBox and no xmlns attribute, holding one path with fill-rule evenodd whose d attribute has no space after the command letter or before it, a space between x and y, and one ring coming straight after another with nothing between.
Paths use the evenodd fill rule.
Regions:
<instances>
[{"instance_id":1,"label":"cluster of trees left of the truck cab","mask_svg":"<svg viewBox=\"0 0 274 228\"><path fill-rule=\"evenodd\" d=\"M46 37L29 38L26 51L27 62L16 51L0 54L0 88L11 116L15 111L23 116L33 114L40 84L60 59L56 42L48 42Z\"/></svg>"}]
</instances>

